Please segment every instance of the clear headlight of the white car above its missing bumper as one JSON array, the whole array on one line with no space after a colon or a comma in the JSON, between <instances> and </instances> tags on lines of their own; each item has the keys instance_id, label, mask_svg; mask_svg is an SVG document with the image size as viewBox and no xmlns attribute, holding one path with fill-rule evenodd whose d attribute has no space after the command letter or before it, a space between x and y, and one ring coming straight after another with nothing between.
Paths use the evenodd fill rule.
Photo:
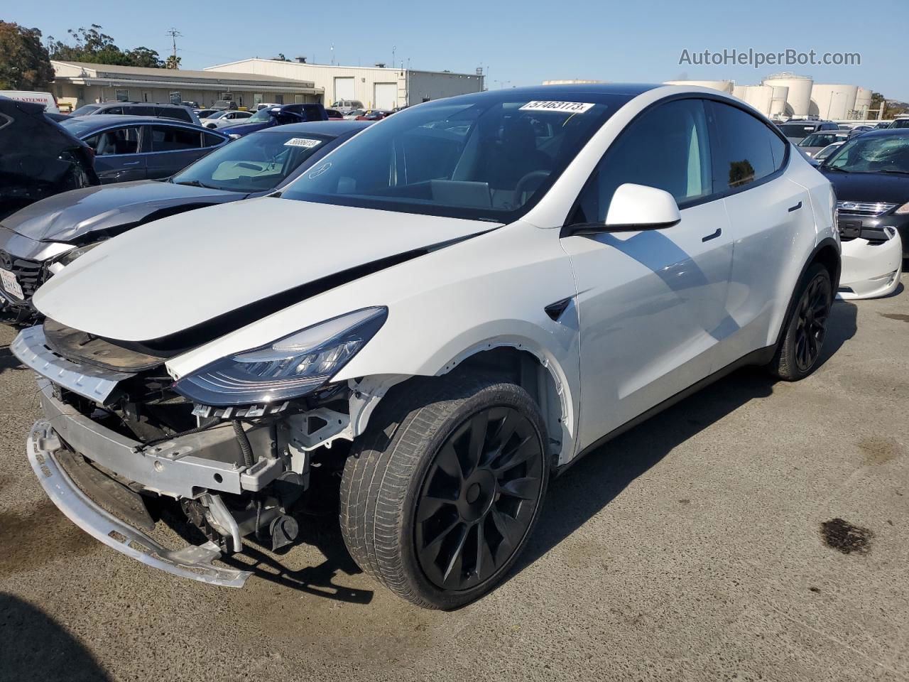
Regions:
<instances>
[{"instance_id":1,"label":"clear headlight of the white car above its missing bumper","mask_svg":"<svg viewBox=\"0 0 909 682\"><path fill-rule=\"evenodd\" d=\"M215 360L174 388L203 405L270 403L305 396L347 364L385 324L388 308L334 317L272 344Z\"/></svg>"}]
</instances>

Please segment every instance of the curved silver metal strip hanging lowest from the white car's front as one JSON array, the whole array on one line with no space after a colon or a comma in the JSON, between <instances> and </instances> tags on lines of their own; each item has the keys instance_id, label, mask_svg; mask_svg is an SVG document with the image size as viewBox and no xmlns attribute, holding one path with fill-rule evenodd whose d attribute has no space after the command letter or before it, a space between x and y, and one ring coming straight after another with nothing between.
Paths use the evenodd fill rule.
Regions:
<instances>
[{"instance_id":1,"label":"curved silver metal strip hanging lowest from the white car's front","mask_svg":"<svg viewBox=\"0 0 909 682\"><path fill-rule=\"evenodd\" d=\"M48 421L35 423L28 436L28 461L47 496L76 526L108 547L113 547L146 566L212 585L244 586L246 578L251 575L249 571L215 567L212 564L221 557L221 552L214 543L187 545L177 550L167 549L96 505L58 465L55 452L62 447L63 444Z\"/></svg>"}]
</instances>

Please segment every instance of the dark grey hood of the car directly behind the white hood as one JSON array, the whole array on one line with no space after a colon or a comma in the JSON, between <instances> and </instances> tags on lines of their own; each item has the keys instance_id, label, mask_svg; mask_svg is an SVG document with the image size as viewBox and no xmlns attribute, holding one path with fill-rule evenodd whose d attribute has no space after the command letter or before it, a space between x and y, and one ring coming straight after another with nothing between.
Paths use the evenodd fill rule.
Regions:
<instances>
[{"instance_id":1,"label":"dark grey hood of the car directly behind the white hood","mask_svg":"<svg viewBox=\"0 0 909 682\"><path fill-rule=\"evenodd\" d=\"M139 180L49 196L9 216L3 225L36 241L67 242L96 230L135 224L176 206L207 206L244 196L220 189Z\"/></svg>"}]
</instances>

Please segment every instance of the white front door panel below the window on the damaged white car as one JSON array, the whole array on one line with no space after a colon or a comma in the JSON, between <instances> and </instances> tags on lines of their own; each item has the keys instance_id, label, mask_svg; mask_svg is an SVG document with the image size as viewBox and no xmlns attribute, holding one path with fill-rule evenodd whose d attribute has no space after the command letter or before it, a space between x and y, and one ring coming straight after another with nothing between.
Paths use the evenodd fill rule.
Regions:
<instances>
[{"instance_id":1,"label":"white front door panel below the window on the damaged white car","mask_svg":"<svg viewBox=\"0 0 909 682\"><path fill-rule=\"evenodd\" d=\"M681 216L662 230L562 240L581 319L581 448L710 375L734 332L723 202Z\"/></svg>"}]
</instances>

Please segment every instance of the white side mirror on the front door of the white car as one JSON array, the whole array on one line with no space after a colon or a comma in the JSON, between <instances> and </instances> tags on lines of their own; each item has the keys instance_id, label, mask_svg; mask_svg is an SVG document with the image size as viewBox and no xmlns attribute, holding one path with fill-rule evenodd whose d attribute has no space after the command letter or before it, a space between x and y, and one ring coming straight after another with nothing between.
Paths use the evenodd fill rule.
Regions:
<instances>
[{"instance_id":1,"label":"white side mirror on the front door of the white car","mask_svg":"<svg viewBox=\"0 0 909 682\"><path fill-rule=\"evenodd\" d=\"M674 196L668 192L625 183L615 190L603 223L565 226L562 236L659 230L677 225L681 220Z\"/></svg>"}]
</instances>

